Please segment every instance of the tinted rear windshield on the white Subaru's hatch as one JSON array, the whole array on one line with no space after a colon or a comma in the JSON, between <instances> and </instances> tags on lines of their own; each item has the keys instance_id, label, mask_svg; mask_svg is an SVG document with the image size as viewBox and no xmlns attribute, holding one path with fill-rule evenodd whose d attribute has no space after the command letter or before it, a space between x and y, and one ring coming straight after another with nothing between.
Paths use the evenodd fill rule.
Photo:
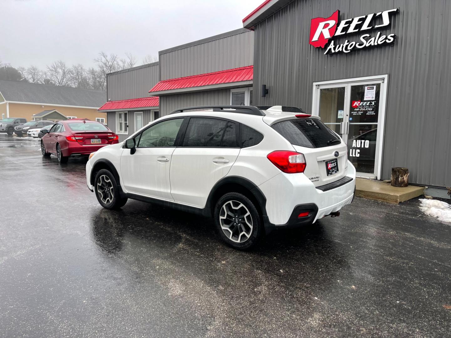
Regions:
<instances>
[{"instance_id":1,"label":"tinted rear windshield on the white Subaru's hatch","mask_svg":"<svg viewBox=\"0 0 451 338\"><path fill-rule=\"evenodd\" d=\"M339 138L318 119L291 119L272 125L279 134L295 146L322 148L336 146Z\"/></svg>"}]
</instances>

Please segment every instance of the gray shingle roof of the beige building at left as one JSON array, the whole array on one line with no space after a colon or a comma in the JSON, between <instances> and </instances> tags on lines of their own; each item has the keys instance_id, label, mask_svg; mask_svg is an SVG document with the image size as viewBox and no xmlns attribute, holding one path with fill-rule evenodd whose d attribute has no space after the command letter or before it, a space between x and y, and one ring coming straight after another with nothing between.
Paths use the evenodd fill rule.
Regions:
<instances>
[{"instance_id":1,"label":"gray shingle roof of the beige building at left","mask_svg":"<svg viewBox=\"0 0 451 338\"><path fill-rule=\"evenodd\" d=\"M50 86L22 81L0 80L0 93L6 101L75 105L100 108L106 93L91 89Z\"/></svg>"}]
</instances>

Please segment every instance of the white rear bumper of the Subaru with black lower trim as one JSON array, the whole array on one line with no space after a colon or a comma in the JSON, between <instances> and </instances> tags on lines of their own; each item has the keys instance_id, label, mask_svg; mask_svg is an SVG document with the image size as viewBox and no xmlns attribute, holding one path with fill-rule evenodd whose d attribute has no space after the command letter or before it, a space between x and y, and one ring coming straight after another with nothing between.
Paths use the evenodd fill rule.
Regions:
<instances>
[{"instance_id":1,"label":"white rear bumper of the Subaru with black lower trim","mask_svg":"<svg viewBox=\"0 0 451 338\"><path fill-rule=\"evenodd\" d=\"M327 186L315 187L304 174L278 174L259 186L266 196L265 228L295 228L315 223L350 204L354 198L355 169ZM323 191L324 190L324 191ZM307 217L298 218L301 210Z\"/></svg>"}]
</instances>

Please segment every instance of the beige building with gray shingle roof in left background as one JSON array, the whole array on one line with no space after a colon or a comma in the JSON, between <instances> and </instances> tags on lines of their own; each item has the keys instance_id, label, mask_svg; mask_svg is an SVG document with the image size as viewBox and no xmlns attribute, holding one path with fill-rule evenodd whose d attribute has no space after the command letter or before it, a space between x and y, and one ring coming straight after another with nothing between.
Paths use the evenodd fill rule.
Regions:
<instances>
[{"instance_id":1,"label":"beige building with gray shingle roof in left background","mask_svg":"<svg viewBox=\"0 0 451 338\"><path fill-rule=\"evenodd\" d=\"M97 111L106 102L106 93L90 89L50 86L37 83L0 80L0 118L20 117L27 121L90 119L107 123L106 113Z\"/></svg>"}]
</instances>

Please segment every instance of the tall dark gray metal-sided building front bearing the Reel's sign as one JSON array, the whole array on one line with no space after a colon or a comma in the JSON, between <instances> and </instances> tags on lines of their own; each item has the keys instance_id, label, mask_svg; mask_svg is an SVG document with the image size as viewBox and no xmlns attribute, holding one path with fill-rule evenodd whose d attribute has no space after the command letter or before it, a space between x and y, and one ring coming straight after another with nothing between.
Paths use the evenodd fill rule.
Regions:
<instances>
[{"instance_id":1,"label":"tall dark gray metal-sided building front bearing the Reel's sign","mask_svg":"<svg viewBox=\"0 0 451 338\"><path fill-rule=\"evenodd\" d=\"M376 14L388 9L397 9L397 12L390 12L390 24L379 29L332 36L336 45L346 40L359 41L364 33L370 36L380 33L379 37L394 33L396 40L383 46L324 55L326 47L315 48L309 44L312 19L330 19L337 9L341 10L338 24L347 18L372 14L375 15L373 27L383 24L381 15ZM450 17L451 1L446 0L270 1L266 8L244 19L244 27L254 30L254 104L298 106L307 112L319 111L321 116L318 106L322 104L322 93L337 92L332 87L343 85L344 100L347 100L346 95L354 95L352 84L346 87L347 79L353 79L348 82L354 81L357 87L359 83L373 84L372 79L381 76L377 83L381 88L378 123L384 117L385 122L378 128L379 133L383 130L378 136L380 142L377 139L382 168L379 176L375 171L375 178L390 179L391 168L402 166L409 168L411 183L450 186ZM359 82L360 78L364 82ZM265 97L260 95L262 85L269 90ZM367 89L371 87L364 88L366 99ZM385 98L382 88L386 90ZM358 104L361 104L360 99L358 103L352 101L349 108L345 106L345 114L347 110L355 114L354 105ZM331 123L331 127L338 131L343 109L333 114L338 114L338 119L334 117L328 122L336 122ZM352 125L352 119L350 122ZM362 135L357 134L352 135L354 139Z\"/></svg>"}]
</instances>

